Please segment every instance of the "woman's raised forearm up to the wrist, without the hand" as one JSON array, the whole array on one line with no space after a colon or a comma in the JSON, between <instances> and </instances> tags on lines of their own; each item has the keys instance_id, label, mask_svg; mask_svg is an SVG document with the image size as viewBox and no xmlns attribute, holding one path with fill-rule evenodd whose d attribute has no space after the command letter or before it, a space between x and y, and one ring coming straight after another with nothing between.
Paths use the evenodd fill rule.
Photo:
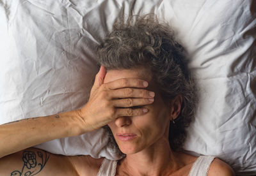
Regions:
<instances>
[{"instance_id":1,"label":"woman's raised forearm up to the wrist, without the hand","mask_svg":"<svg viewBox=\"0 0 256 176\"><path fill-rule=\"evenodd\" d=\"M0 126L0 158L56 138L84 133L74 112L24 119Z\"/></svg>"}]
</instances>

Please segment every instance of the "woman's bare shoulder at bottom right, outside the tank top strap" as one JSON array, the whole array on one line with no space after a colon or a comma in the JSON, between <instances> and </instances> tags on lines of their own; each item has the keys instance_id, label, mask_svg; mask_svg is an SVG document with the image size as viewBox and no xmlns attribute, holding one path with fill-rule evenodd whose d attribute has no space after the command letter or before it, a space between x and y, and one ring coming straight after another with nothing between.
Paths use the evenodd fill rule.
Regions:
<instances>
[{"instance_id":1,"label":"woman's bare shoulder at bottom right, outside the tank top strap","mask_svg":"<svg viewBox=\"0 0 256 176\"><path fill-rule=\"evenodd\" d=\"M208 176L235 176L234 170L221 159L215 158L209 168Z\"/></svg>"}]
</instances>

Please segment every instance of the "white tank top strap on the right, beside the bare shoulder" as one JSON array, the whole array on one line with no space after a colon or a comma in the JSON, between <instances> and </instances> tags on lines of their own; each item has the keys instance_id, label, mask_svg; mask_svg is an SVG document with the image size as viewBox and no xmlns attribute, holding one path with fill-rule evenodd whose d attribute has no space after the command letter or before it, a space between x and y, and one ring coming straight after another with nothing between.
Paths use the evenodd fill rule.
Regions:
<instances>
[{"instance_id":1,"label":"white tank top strap on the right, beside the bare shoulder","mask_svg":"<svg viewBox=\"0 0 256 176\"><path fill-rule=\"evenodd\" d=\"M216 158L214 156L199 156L189 172L189 176L207 176L209 167Z\"/></svg>"}]
</instances>

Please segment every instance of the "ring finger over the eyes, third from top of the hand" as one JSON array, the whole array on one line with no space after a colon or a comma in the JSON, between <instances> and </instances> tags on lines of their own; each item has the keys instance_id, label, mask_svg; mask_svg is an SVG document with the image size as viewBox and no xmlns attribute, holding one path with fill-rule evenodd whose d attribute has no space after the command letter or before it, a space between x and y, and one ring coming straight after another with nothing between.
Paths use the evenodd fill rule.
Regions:
<instances>
[{"instance_id":1,"label":"ring finger over the eyes, third from top of the hand","mask_svg":"<svg viewBox=\"0 0 256 176\"><path fill-rule=\"evenodd\" d=\"M113 101L113 106L115 107L132 107L132 106L143 106L153 103L154 98L125 98L116 99Z\"/></svg>"}]
</instances>

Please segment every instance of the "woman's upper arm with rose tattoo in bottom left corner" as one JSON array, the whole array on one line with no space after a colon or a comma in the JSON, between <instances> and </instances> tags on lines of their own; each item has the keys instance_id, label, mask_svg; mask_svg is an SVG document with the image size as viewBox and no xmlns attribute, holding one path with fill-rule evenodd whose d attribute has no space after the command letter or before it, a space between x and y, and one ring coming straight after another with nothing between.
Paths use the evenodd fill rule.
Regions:
<instances>
[{"instance_id":1,"label":"woman's upper arm with rose tattoo in bottom left corner","mask_svg":"<svg viewBox=\"0 0 256 176\"><path fill-rule=\"evenodd\" d=\"M86 159L76 159L86 167ZM87 172L92 169L86 167ZM0 175L79 175L74 161L68 156L50 154L44 150L29 148L0 159ZM86 173L87 173L86 172Z\"/></svg>"}]
</instances>

